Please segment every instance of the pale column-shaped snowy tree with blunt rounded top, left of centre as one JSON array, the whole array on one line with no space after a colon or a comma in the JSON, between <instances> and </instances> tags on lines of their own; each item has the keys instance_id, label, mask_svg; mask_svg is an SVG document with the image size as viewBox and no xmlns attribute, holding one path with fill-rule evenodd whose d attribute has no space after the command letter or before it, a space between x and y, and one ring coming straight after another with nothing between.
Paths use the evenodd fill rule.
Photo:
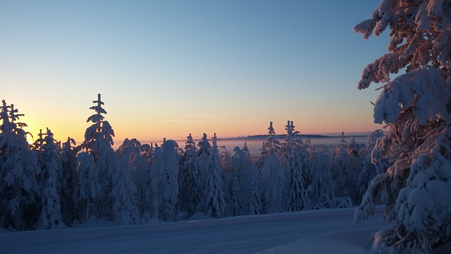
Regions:
<instances>
[{"instance_id":1,"label":"pale column-shaped snowy tree with blunt rounded top, left of centre","mask_svg":"<svg viewBox=\"0 0 451 254\"><path fill-rule=\"evenodd\" d=\"M174 140L164 140L161 152L156 152L155 168L158 174L159 219L175 222L178 219L178 147Z\"/></svg>"}]
</instances>

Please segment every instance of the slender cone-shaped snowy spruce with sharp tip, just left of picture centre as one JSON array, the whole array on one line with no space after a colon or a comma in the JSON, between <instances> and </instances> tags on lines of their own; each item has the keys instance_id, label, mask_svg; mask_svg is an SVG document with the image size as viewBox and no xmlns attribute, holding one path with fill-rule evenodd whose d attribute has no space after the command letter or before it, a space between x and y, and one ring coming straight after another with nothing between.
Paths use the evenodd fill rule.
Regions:
<instances>
[{"instance_id":1,"label":"slender cone-shaped snowy spruce with sharp tip, just left of picture centre","mask_svg":"<svg viewBox=\"0 0 451 254\"><path fill-rule=\"evenodd\" d=\"M206 215L222 218L226 211L226 201L224 200L223 181L221 179L221 166L219 165L219 150L216 144L216 133L214 133L211 143L211 155L209 155L209 168L205 181L206 200L204 211Z\"/></svg>"}]
</instances>

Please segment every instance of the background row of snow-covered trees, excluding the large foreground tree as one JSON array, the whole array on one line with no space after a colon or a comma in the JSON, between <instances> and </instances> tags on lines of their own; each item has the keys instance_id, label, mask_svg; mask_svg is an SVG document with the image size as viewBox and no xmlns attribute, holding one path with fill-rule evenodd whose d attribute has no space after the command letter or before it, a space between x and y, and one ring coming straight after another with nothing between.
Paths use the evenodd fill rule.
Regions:
<instances>
[{"instance_id":1,"label":"background row of snow-covered trees, excluding the large foreground tree","mask_svg":"<svg viewBox=\"0 0 451 254\"><path fill-rule=\"evenodd\" d=\"M34 143L18 109L3 101L0 126L1 226L10 230L57 229L89 219L118 225L175 222L195 213L214 218L351 207L376 175L389 166L371 164L378 130L366 144L342 139L333 151L302 140L288 121L284 142L272 122L261 155L253 162L246 144L229 152L216 133L184 147L125 139L115 151L101 95L93 101L85 140L54 140L47 131Z\"/></svg>"}]
</instances>

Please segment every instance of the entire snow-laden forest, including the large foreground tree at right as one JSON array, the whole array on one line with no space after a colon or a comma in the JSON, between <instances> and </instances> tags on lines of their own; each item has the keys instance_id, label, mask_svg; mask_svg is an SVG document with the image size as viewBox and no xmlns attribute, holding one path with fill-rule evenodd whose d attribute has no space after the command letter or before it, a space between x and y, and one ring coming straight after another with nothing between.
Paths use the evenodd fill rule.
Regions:
<instances>
[{"instance_id":1,"label":"entire snow-laden forest, including the large foreground tree at right","mask_svg":"<svg viewBox=\"0 0 451 254\"><path fill-rule=\"evenodd\" d=\"M56 143L49 129L29 145L23 114L3 101L0 226L142 224L353 205L359 223L384 205L391 224L373 234L370 253L451 253L451 1L382 0L354 26L364 39L387 30L388 53L364 68L357 85L379 84L373 119L386 131L362 145L342 140L332 151L302 140L292 121L283 142L269 124L255 162L246 145L221 150L216 134L197 144L188 135L184 148L173 140L124 140L114 151L100 95L80 145Z\"/></svg>"}]
</instances>

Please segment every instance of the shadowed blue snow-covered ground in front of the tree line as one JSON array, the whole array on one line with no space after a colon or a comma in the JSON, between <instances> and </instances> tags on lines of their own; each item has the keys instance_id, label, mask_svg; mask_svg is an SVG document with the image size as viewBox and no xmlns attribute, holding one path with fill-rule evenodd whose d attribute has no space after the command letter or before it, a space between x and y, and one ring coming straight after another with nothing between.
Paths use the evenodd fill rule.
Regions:
<instances>
[{"instance_id":1,"label":"shadowed blue snow-covered ground in front of the tree line","mask_svg":"<svg viewBox=\"0 0 451 254\"><path fill-rule=\"evenodd\" d=\"M382 213L354 208L44 231L0 231L1 253L364 253ZM88 224L85 226L92 226Z\"/></svg>"}]
</instances>

